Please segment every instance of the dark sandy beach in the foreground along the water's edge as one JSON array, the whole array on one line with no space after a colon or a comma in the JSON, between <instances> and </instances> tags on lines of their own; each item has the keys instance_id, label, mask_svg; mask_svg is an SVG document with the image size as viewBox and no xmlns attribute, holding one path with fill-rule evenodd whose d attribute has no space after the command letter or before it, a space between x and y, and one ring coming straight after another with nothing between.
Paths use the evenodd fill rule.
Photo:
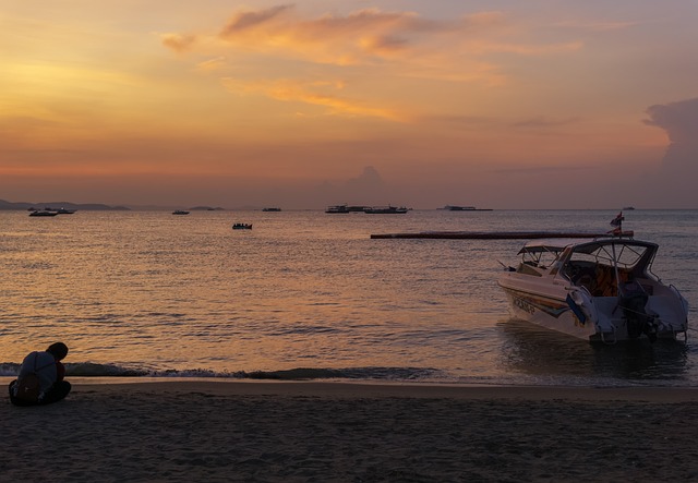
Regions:
<instances>
[{"instance_id":1,"label":"dark sandy beach in the foreground along the water's edge","mask_svg":"<svg viewBox=\"0 0 698 483\"><path fill-rule=\"evenodd\" d=\"M73 384L4 397L1 481L698 481L698 389Z\"/></svg>"}]
</instances>

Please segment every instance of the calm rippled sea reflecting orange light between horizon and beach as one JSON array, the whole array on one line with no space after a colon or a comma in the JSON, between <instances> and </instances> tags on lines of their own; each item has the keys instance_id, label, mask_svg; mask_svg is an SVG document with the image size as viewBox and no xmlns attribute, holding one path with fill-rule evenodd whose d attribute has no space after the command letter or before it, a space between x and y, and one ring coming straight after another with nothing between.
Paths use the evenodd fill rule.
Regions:
<instances>
[{"instance_id":1,"label":"calm rippled sea reflecting orange light between horizon and beach","mask_svg":"<svg viewBox=\"0 0 698 483\"><path fill-rule=\"evenodd\" d=\"M606 231L613 210L0 212L0 375L62 340L69 374L428 383L698 383L687 343L592 346L512 319L500 262L525 241L430 230ZM626 212L654 273L698 306L698 212ZM251 222L252 230L232 230Z\"/></svg>"}]
</instances>

